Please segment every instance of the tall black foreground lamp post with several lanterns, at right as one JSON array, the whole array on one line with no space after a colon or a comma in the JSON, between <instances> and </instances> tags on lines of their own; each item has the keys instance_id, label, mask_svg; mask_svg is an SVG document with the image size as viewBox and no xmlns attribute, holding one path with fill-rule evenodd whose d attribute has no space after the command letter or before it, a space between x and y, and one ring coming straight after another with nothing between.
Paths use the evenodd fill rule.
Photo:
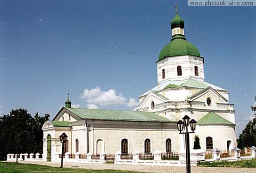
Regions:
<instances>
[{"instance_id":1,"label":"tall black foreground lamp post with several lanterns, at right","mask_svg":"<svg viewBox=\"0 0 256 173\"><path fill-rule=\"evenodd\" d=\"M183 121L182 121L183 120ZM196 123L197 121L192 119L188 115L185 115L182 120L177 122L177 128L180 131L180 134L185 134L185 142L186 142L186 168L187 173L190 173L190 133L195 133ZM190 125L191 132L188 132L188 126ZM185 132L182 132L185 130Z\"/></svg>"}]
</instances>

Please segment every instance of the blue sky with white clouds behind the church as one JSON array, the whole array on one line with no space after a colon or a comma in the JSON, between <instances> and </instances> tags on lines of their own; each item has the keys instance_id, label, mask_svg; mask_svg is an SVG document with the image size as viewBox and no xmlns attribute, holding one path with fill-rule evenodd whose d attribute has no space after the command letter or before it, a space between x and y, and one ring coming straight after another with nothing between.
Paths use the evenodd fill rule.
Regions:
<instances>
[{"instance_id":1,"label":"blue sky with white clouds behind the church","mask_svg":"<svg viewBox=\"0 0 256 173\"><path fill-rule=\"evenodd\" d=\"M67 91L80 107L132 110L157 85L155 62L171 38L174 5L0 0L1 114L22 107L53 117ZM205 57L206 82L230 90L240 133L256 95L256 8L192 7L182 0L179 15L186 38Z\"/></svg>"}]
</instances>

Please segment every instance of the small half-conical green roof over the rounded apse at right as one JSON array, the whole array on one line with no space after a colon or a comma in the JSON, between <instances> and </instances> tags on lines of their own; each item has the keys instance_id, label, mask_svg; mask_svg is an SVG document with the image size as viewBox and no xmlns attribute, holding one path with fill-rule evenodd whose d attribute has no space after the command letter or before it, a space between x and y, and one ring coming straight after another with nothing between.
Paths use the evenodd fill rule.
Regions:
<instances>
[{"instance_id":1,"label":"small half-conical green roof over the rounded apse at right","mask_svg":"<svg viewBox=\"0 0 256 173\"><path fill-rule=\"evenodd\" d=\"M206 116L198 120L197 124L198 125L211 125L211 124L232 124L233 125L232 122L224 119L223 117L221 117L220 115L214 112L210 112L206 114Z\"/></svg>"}]
</instances>

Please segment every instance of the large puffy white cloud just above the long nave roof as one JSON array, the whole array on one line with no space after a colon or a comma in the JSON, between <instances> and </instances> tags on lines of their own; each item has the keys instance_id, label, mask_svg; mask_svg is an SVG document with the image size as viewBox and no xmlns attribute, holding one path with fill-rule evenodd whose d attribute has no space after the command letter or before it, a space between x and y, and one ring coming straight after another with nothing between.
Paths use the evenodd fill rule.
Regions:
<instances>
[{"instance_id":1,"label":"large puffy white cloud just above the long nave roof","mask_svg":"<svg viewBox=\"0 0 256 173\"><path fill-rule=\"evenodd\" d=\"M80 98L85 98L88 103L87 107L91 104L99 106L114 106L114 105L125 105L127 107L135 107L138 102L134 98L130 98L127 101L122 93L117 93L115 89L107 91L101 90L98 86L93 89L84 89Z\"/></svg>"}]
</instances>

